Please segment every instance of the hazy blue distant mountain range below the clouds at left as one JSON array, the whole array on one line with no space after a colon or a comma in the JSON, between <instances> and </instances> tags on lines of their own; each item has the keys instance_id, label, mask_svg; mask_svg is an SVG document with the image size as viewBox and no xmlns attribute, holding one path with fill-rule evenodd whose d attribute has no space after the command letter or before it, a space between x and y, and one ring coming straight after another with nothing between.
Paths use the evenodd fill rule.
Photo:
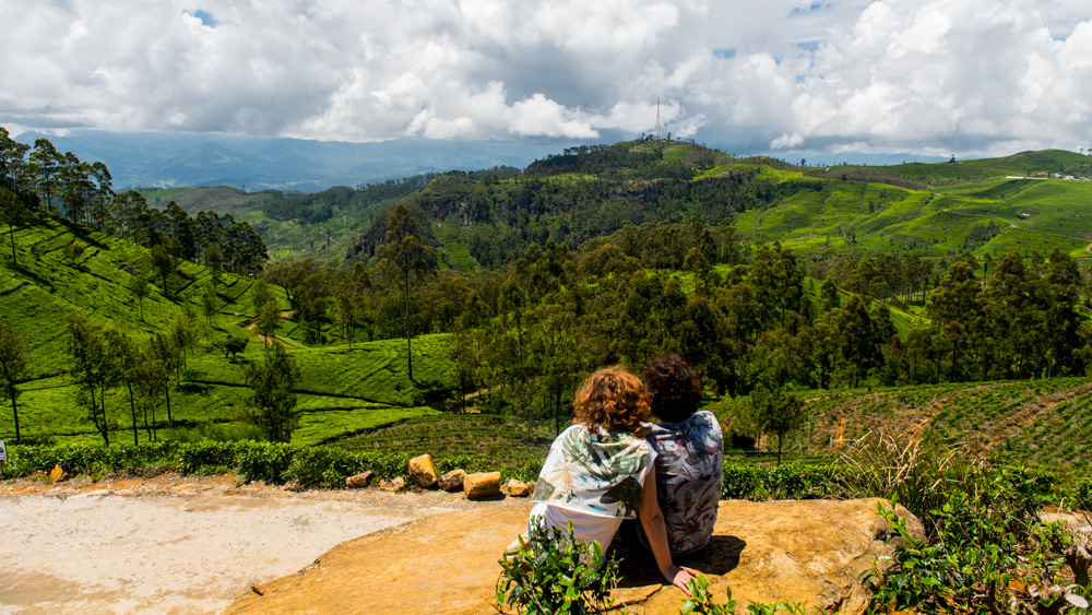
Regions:
<instances>
[{"instance_id":1,"label":"hazy blue distant mountain range below the clouds at left","mask_svg":"<svg viewBox=\"0 0 1092 615\"><path fill-rule=\"evenodd\" d=\"M397 139L342 143L301 139L258 139L225 134L119 133L95 130L67 135L34 132L15 139L33 143L46 137L60 152L102 161L116 189L130 187L246 186L313 192L331 186L357 186L452 169L499 165L525 167L568 141L456 142Z\"/></svg>"}]
</instances>

